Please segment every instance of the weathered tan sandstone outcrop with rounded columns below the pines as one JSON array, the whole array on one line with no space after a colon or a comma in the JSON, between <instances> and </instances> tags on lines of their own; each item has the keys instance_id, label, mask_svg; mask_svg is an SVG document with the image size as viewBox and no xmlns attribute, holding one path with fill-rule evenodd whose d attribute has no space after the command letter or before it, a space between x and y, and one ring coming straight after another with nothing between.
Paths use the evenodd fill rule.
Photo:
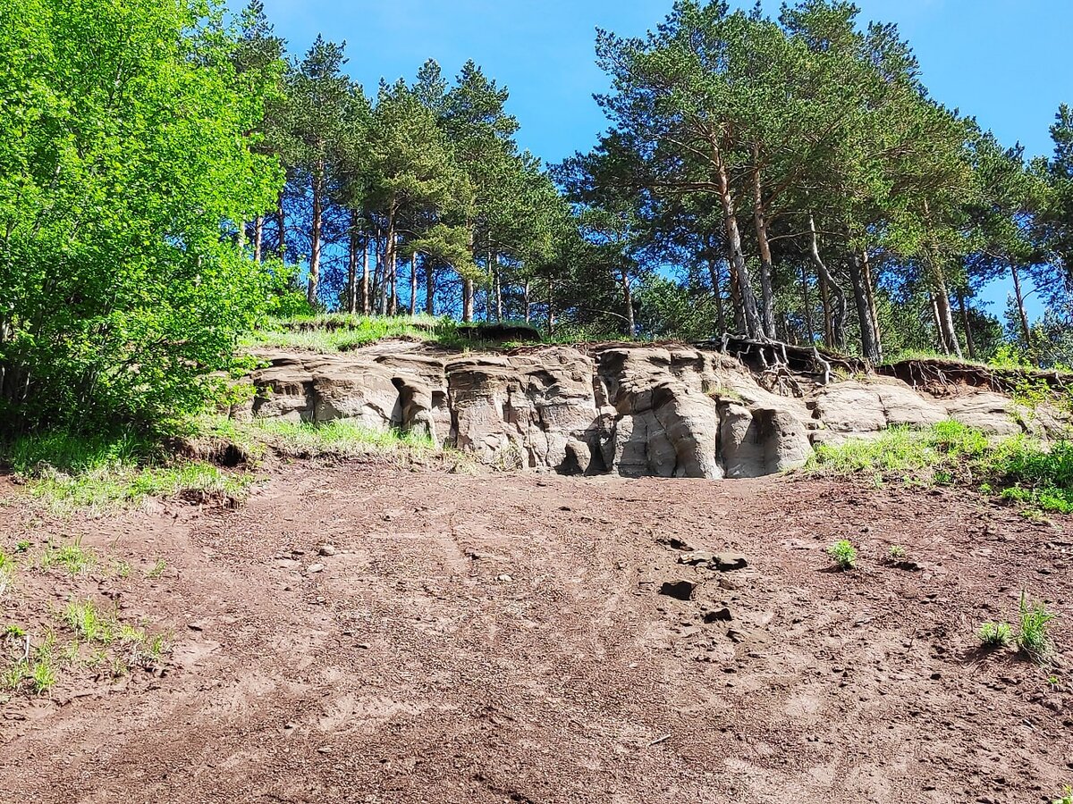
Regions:
<instances>
[{"instance_id":1,"label":"weathered tan sandstone outcrop with rounded columns below the pines","mask_svg":"<svg viewBox=\"0 0 1073 804\"><path fill-rule=\"evenodd\" d=\"M756 477L800 466L813 444L895 425L957 418L993 432L1019 429L999 394L940 401L874 378L782 397L734 358L685 346L458 355L382 343L343 355L260 356L267 368L252 375L259 394L236 415L417 430L505 468Z\"/></svg>"}]
</instances>

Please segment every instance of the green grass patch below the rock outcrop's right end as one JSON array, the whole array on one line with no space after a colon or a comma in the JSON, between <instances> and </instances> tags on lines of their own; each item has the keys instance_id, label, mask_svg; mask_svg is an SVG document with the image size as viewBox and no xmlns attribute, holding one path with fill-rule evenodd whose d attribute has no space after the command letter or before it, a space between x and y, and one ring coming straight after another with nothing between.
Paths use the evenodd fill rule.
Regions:
<instances>
[{"instance_id":1,"label":"green grass patch below the rock outcrop's right end","mask_svg":"<svg viewBox=\"0 0 1073 804\"><path fill-rule=\"evenodd\" d=\"M1073 442L1052 444L1026 435L991 440L957 421L926 430L892 428L873 440L821 445L806 471L869 474L925 485L969 485L1045 511L1073 512Z\"/></svg>"}]
</instances>

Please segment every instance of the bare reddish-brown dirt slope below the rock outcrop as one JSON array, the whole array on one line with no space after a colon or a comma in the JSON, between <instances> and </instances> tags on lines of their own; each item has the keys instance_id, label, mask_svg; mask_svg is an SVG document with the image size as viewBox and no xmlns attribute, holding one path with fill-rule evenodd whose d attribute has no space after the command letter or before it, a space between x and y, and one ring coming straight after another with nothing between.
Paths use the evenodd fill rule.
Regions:
<instances>
[{"instance_id":1,"label":"bare reddish-brown dirt slope below the rock outcrop","mask_svg":"<svg viewBox=\"0 0 1073 804\"><path fill-rule=\"evenodd\" d=\"M1024 804L1073 783L1068 669L974 637L1024 589L1073 655L1073 527L971 494L376 464L293 464L236 510L60 520L20 493L0 478L0 547L82 536L132 571L28 569L0 625L90 596L174 653L0 703L0 801ZM843 537L861 566L831 571ZM680 564L672 538L749 566ZM693 599L660 594L677 580Z\"/></svg>"}]
</instances>

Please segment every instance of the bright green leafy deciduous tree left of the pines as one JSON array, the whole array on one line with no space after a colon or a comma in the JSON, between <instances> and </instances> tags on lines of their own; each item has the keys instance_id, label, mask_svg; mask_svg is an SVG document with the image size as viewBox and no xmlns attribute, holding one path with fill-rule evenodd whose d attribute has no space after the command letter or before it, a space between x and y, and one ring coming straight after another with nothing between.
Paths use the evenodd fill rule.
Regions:
<instances>
[{"instance_id":1,"label":"bright green leafy deciduous tree left of the pines","mask_svg":"<svg viewBox=\"0 0 1073 804\"><path fill-rule=\"evenodd\" d=\"M259 89L209 4L0 6L0 427L197 410L269 289L226 235L282 179Z\"/></svg>"}]
</instances>

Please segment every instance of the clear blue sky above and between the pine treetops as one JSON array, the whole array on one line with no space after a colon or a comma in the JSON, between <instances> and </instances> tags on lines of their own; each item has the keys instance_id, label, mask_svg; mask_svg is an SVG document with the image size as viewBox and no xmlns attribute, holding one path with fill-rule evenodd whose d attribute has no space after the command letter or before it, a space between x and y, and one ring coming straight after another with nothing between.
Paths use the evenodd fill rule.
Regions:
<instances>
[{"instance_id":1,"label":"clear blue sky above and between the pine treetops","mask_svg":"<svg viewBox=\"0 0 1073 804\"><path fill-rule=\"evenodd\" d=\"M764 5L778 12L777 0ZM975 116L1005 144L1050 153L1047 128L1059 103L1073 103L1073 0L857 5L863 19L898 24L936 99ZM640 35L670 8L671 0L265 0L292 51L318 33L346 40L350 73L370 94L382 76L412 79L428 58L449 76L473 59L511 90L520 144L547 162L587 150L605 128L592 101L606 88L593 63L596 28ZM1004 285L988 288L994 313L1005 294Z\"/></svg>"}]
</instances>

